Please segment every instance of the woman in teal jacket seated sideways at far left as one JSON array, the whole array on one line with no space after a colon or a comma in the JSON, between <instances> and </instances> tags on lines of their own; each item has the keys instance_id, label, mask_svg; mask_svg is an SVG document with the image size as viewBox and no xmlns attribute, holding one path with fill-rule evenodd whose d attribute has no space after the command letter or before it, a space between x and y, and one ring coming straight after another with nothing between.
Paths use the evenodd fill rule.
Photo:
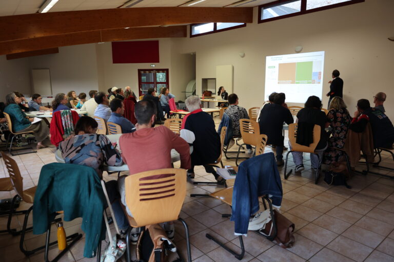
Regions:
<instances>
[{"instance_id":1,"label":"woman in teal jacket seated sideways at far left","mask_svg":"<svg viewBox=\"0 0 394 262\"><path fill-rule=\"evenodd\" d=\"M32 131L35 140L37 140L37 149L45 148L43 141L49 136L49 128L44 121L39 121L32 124L34 118L29 118L22 111L18 104L22 102L22 99L17 97L14 93L6 96L7 106L4 108L4 112L10 115L13 131L17 133L23 133Z\"/></svg>"}]
</instances>

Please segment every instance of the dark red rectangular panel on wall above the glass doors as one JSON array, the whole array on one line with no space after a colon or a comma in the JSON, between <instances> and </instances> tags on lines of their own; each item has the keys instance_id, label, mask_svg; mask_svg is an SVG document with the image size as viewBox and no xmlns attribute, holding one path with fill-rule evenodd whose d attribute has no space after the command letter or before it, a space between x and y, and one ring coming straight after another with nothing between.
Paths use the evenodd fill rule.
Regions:
<instances>
[{"instance_id":1,"label":"dark red rectangular panel on wall above the glass doors","mask_svg":"<svg viewBox=\"0 0 394 262\"><path fill-rule=\"evenodd\" d=\"M112 63L158 63L159 40L112 42Z\"/></svg>"}]
</instances>

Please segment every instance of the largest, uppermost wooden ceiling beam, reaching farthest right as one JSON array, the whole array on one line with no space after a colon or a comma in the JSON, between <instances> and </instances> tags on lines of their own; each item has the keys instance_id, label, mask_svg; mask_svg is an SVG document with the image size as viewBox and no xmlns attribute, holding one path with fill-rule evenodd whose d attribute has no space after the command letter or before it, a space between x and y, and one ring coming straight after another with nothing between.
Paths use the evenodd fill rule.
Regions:
<instances>
[{"instance_id":1,"label":"largest, uppermost wooden ceiling beam, reaching farthest right","mask_svg":"<svg viewBox=\"0 0 394 262\"><path fill-rule=\"evenodd\" d=\"M76 32L193 23L252 23L253 8L151 7L0 17L0 42Z\"/></svg>"}]
</instances>

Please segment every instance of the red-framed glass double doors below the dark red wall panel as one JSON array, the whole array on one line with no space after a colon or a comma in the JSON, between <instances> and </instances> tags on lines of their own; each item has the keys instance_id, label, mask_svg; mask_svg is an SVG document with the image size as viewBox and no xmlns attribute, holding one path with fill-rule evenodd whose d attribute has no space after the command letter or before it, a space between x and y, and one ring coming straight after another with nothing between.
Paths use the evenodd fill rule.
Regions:
<instances>
[{"instance_id":1,"label":"red-framed glass double doors below the dark red wall panel","mask_svg":"<svg viewBox=\"0 0 394 262\"><path fill-rule=\"evenodd\" d=\"M169 88L168 69L139 69L138 81L140 85L140 96L145 95L149 88L154 88L159 94L161 88Z\"/></svg>"}]
</instances>

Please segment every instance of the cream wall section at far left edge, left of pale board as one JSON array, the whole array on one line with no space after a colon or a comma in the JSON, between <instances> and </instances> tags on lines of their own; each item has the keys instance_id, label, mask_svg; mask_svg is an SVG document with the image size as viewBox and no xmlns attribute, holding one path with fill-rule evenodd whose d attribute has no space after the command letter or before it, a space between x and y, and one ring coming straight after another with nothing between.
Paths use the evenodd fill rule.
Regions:
<instances>
[{"instance_id":1,"label":"cream wall section at far left edge, left of pale board","mask_svg":"<svg viewBox=\"0 0 394 262\"><path fill-rule=\"evenodd\" d=\"M0 56L0 101L4 102L6 94L13 91L30 94L29 72L28 58L7 60L5 55Z\"/></svg>"}]
</instances>

